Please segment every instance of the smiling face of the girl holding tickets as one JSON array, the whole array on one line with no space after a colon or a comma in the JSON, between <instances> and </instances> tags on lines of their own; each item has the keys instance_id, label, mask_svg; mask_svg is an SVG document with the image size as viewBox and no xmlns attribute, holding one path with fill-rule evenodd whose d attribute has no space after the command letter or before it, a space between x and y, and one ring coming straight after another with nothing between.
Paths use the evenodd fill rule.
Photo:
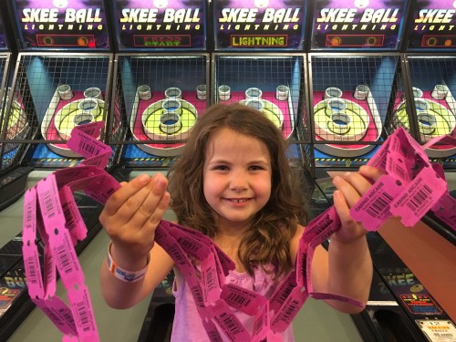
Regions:
<instances>
[{"instance_id":1,"label":"smiling face of the girl holding tickets","mask_svg":"<svg viewBox=\"0 0 456 342\"><path fill-rule=\"evenodd\" d=\"M246 228L271 195L271 157L264 142L217 130L204 160L204 197L218 228Z\"/></svg>"}]
</instances>

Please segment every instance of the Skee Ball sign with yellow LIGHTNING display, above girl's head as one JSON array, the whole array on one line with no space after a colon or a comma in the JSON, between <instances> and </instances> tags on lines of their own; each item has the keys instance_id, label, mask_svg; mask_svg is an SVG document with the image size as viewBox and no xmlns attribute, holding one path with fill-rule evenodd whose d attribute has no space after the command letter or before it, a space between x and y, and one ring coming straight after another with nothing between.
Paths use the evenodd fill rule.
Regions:
<instances>
[{"instance_id":1,"label":"Skee Ball sign with yellow LIGHTNING display, above girl's head","mask_svg":"<svg viewBox=\"0 0 456 342\"><path fill-rule=\"evenodd\" d=\"M213 1L217 49L300 49L304 43L306 1Z\"/></svg>"}]
</instances>

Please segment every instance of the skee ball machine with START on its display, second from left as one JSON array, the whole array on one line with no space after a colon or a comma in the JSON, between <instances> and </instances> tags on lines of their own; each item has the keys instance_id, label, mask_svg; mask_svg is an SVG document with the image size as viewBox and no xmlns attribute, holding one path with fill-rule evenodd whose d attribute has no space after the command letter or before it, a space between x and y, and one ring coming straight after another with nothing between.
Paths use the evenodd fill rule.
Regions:
<instances>
[{"instance_id":1,"label":"skee ball machine with START on its display, second from left","mask_svg":"<svg viewBox=\"0 0 456 342\"><path fill-rule=\"evenodd\" d=\"M210 99L207 3L114 1L116 28L112 107L122 146L119 164L164 169L179 158Z\"/></svg>"}]
</instances>

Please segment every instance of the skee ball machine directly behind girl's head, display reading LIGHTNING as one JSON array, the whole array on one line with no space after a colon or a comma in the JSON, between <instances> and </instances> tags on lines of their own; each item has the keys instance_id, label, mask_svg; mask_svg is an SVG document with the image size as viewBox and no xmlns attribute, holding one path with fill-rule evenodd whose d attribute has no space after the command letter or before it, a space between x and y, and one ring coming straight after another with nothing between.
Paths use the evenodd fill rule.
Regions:
<instances>
[{"instance_id":1,"label":"skee ball machine directly behind girl's head, display reading LIGHTNING","mask_svg":"<svg viewBox=\"0 0 456 342\"><path fill-rule=\"evenodd\" d=\"M313 178L305 91L307 4L212 1L212 102L238 102L275 122L291 142L290 163L304 183Z\"/></svg>"}]
</instances>

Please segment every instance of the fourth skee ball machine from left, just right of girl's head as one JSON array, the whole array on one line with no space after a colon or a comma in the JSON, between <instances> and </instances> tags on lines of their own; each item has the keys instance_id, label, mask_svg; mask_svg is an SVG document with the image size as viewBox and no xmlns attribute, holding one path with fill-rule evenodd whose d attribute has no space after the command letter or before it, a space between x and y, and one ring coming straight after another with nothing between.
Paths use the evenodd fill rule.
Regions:
<instances>
[{"instance_id":1,"label":"fourth skee ball machine from left, just right of girl's head","mask_svg":"<svg viewBox=\"0 0 456 342\"><path fill-rule=\"evenodd\" d=\"M407 3L316 2L309 53L316 168L358 168L393 130Z\"/></svg>"}]
</instances>

